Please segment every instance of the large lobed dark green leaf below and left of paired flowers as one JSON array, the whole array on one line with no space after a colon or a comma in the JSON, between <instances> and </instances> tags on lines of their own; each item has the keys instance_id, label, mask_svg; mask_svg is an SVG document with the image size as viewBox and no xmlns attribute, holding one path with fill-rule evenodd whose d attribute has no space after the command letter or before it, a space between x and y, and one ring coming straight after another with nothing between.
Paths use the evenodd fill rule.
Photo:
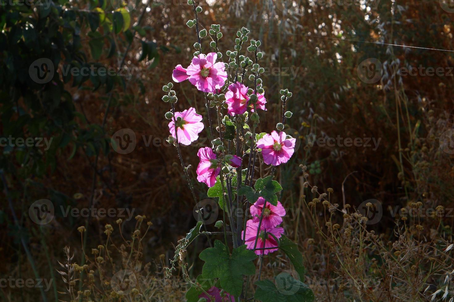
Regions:
<instances>
[{"instance_id":1,"label":"large lobed dark green leaf below and left of paired flowers","mask_svg":"<svg viewBox=\"0 0 454 302\"><path fill-rule=\"evenodd\" d=\"M205 261L202 268L203 278L219 278L221 287L234 296L239 296L243 288L243 275L255 274L253 260L257 255L246 244L229 249L220 240L215 240L214 247L200 253L199 258Z\"/></svg>"}]
</instances>

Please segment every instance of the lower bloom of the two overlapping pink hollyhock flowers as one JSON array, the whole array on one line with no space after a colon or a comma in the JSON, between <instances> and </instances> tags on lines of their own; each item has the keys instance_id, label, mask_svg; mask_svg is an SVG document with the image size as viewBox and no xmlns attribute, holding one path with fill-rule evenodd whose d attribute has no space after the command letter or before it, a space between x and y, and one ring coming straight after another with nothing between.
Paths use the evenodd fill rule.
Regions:
<instances>
[{"instance_id":1,"label":"lower bloom of the two overlapping pink hollyhock flowers","mask_svg":"<svg viewBox=\"0 0 454 302\"><path fill-rule=\"evenodd\" d=\"M257 230L258 230L258 222L252 221L249 219L246 222L246 236L245 236L245 244L247 244L247 249L254 249L255 240L257 237ZM276 239L274 239L271 234L276 236L277 239L281 238L281 235L284 233L284 229L279 227L273 227L266 229L262 225L260 227L260 233L257 239L257 250L255 253L257 255L266 255L268 253L275 252L278 249L278 243ZM244 231L241 232L241 237L243 237ZM263 249L266 248L266 249Z\"/></svg>"}]
</instances>

